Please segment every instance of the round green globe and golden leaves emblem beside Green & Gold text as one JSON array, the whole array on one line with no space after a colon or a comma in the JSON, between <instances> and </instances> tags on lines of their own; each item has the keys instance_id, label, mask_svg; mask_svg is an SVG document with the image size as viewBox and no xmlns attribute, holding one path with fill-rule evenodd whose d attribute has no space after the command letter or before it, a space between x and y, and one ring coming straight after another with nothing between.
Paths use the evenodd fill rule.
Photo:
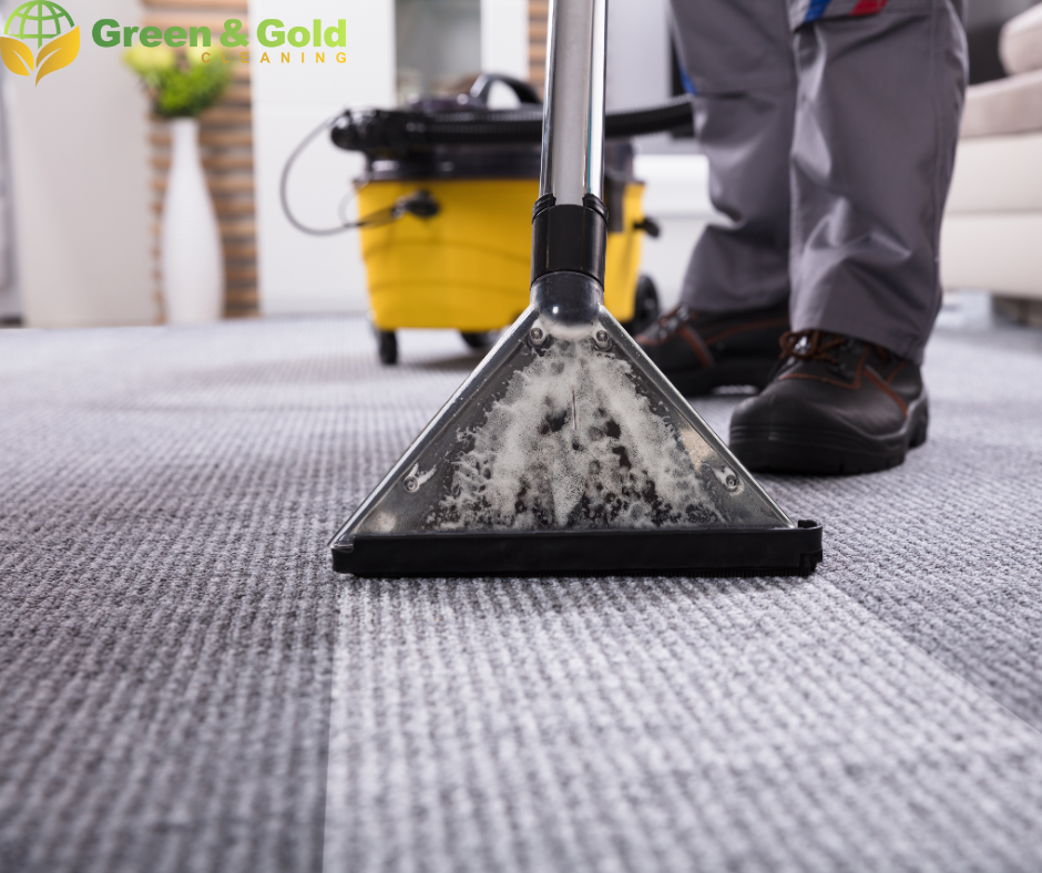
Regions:
<instances>
[{"instance_id":1,"label":"round green globe and golden leaves emblem beside Green & Gold text","mask_svg":"<svg viewBox=\"0 0 1042 873\"><path fill-rule=\"evenodd\" d=\"M37 50L33 55L33 49ZM0 37L0 58L16 75L43 76L68 66L80 53L80 29L50 0L30 0L8 17Z\"/></svg>"}]
</instances>

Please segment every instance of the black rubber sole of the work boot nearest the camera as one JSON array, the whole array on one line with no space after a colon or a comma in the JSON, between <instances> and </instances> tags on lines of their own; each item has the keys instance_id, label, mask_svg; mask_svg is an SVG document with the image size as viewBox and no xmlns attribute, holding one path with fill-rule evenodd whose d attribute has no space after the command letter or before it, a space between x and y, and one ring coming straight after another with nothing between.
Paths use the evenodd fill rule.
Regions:
<instances>
[{"instance_id":1,"label":"black rubber sole of the work boot nearest the camera","mask_svg":"<svg viewBox=\"0 0 1042 873\"><path fill-rule=\"evenodd\" d=\"M733 425L729 444L747 469L759 473L876 473L902 464L909 449L927 441L929 425L930 405L923 391L909 404L905 427L895 433Z\"/></svg>"}]
</instances>

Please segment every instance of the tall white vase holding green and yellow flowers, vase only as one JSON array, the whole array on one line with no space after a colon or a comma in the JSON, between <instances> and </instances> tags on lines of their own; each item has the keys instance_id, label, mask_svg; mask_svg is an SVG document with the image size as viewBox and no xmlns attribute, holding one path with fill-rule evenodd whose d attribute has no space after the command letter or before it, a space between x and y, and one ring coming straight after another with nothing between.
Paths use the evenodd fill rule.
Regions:
<instances>
[{"instance_id":1,"label":"tall white vase holding green and yellow flowers, vase only","mask_svg":"<svg viewBox=\"0 0 1042 873\"><path fill-rule=\"evenodd\" d=\"M215 321L224 312L221 232L200 160L198 126L195 119L170 122L161 270L166 320L172 325Z\"/></svg>"}]
</instances>

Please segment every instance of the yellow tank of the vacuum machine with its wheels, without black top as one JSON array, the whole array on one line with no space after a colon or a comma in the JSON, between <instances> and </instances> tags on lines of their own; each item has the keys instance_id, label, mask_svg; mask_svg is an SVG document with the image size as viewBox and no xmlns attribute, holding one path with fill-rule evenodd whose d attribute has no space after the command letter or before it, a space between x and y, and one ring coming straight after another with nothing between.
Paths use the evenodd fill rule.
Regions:
<instances>
[{"instance_id":1,"label":"yellow tank of the vacuum machine with its wheels, without black top","mask_svg":"<svg viewBox=\"0 0 1042 873\"><path fill-rule=\"evenodd\" d=\"M421 217L402 210L399 220L361 228L369 310L385 363L396 359L399 328L453 328L479 348L517 320L529 302L538 177L511 177L507 167L483 178L410 178L397 168L374 168L359 185L361 215L419 198L431 212ZM641 208L643 185L621 185L621 220L607 235L604 305L640 330L658 316L655 287L639 275L641 236L650 223Z\"/></svg>"}]
</instances>

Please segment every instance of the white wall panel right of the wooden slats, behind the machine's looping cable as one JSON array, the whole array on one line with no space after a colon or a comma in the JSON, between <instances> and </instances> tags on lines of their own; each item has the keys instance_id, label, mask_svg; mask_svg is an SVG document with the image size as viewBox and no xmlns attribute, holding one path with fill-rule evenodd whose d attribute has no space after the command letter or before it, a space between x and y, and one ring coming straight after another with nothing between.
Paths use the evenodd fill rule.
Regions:
<instances>
[{"instance_id":1,"label":"white wall panel right of the wooden slats, behind the machine's looping cable","mask_svg":"<svg viewBox=\"0 0 1042 873\"><path fill-rule=\"evenodd\" d=\"M346 106L392 106L395 103L394 0L249 0L249 29L277 18L288 27L316 18L324 27L347 19L347 63L258 63L263 48L251 41L253 72L254 161L257 202L257 257L260 309L265 315L364 311L366 276L358 235L331 237L300 233L283 215L278 182L289 153L308 132ZM307 50L314 58L315 49ZM331 62L330 62L331 61ZM338 223L337 207L364 167L361 157L316 140L290 177L290 204L297 217L315 227ZM354 210L348 213L354 215Z\"/></svg>"}]
</instances>

